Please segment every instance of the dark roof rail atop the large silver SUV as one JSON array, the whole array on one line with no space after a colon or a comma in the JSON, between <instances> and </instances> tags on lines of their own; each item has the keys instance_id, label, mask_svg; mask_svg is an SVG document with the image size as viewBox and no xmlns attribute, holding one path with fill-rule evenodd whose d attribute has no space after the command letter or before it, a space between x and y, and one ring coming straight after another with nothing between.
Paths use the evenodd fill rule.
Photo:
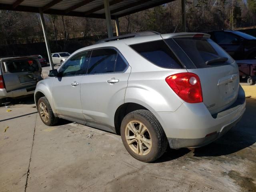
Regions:
<instances>
[{"instance_id":1,"label":"dark roof rail atop the large silver SUV","mask_svg":"<svg viewBox=\"0 0 256 192\"><path fill-rule=\"evenodd\" d=\"M104 43L104 42L110 42L110 41L116 41L121 39L127 39L127 38L134 38L134 37L141 37L141 36L149 36L149 35L159 35L160 33L156 31L142 31L142 32L136 32L136 33L129 33L124 34L116 37L106 38L102 39L96 42L96 44Z\"/></svg>"}]
</instances>

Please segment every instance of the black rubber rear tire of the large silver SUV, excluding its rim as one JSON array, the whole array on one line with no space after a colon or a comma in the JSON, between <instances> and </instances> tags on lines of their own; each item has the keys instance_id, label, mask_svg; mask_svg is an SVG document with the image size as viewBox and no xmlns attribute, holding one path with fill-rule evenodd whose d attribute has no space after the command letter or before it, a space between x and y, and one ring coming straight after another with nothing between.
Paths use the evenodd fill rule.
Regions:
<instances>
[{"instance_id":1,"label":"black rubber rear tire of the large silver SUV, excluding its rim","mask_svg":"<svg viewBox=\"0 0 256 192\"><path fill-rule=\"evenodd\" d=\"M128 126L128 124L132 121L141 122L144 126L146 126L146 129L150 135L150 140L152 142L152 146L148 154L145 154L145 155L136 154L131 149L131 147L129 146L126 140L126 126ZM162 154L164 154L164 152L166 151L168 141L164 133L164 130L160 125L160 123L158 122L158 120L156 119L156 117L154 116L154 114L152 114L148 110L136 110L127 114L122 120L120 132L121 132L121 138L122 138L124 147L130 153L130 155L136 158L137 160L140 160L142 162L148 162L148 163L154 162L155 160L160 158ZM136 144L136 142L138 142L138 140L135 141L135 144L132 144L132 145L134 146L137 145L138 147L138 143ZM145 146L143 147L145 148Z\"/></svg>"}]
</instances>

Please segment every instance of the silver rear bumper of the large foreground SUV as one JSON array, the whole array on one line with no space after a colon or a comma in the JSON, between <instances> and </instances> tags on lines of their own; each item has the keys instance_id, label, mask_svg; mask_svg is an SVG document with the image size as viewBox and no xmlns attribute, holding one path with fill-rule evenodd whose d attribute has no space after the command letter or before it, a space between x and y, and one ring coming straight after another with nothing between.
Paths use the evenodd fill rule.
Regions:
<instances>
[{"instance_id":1,"label":"silver rear bumper of the large foreground SUV","mask_svg":"<svg viewBox=\"0 0 256 192\"><path fill-rule=\"evenodd\" d=\"M153 114L161 123L171 148L196 148L213 142L235 126L245 106L244 91L240 87L237 101L218 114L211 115L204 103L186 102L175 112Z\"/></svg>"}]
</instances>

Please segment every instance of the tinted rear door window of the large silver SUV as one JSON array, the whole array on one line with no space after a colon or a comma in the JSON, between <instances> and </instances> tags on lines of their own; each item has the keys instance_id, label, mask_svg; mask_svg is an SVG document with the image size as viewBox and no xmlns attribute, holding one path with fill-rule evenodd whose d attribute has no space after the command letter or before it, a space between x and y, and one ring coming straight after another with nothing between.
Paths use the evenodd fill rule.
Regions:
<instances>
[{"instance_id":1,"label":"tinted rear door window of the large silver SUV","mask_svg":"<svg viewBox=\"0 0 256 192\"><path fill-rule=\"evenodd\" d=\"M114 49L97 49L92 51L88 74L114 72L117 52Z\"/></svg>"}]
</instances>

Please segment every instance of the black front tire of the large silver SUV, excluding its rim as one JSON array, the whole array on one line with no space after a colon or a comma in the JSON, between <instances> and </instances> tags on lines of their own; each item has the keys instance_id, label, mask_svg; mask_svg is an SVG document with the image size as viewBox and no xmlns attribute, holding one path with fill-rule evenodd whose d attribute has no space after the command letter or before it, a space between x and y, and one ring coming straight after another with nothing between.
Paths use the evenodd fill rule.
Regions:
<instances>
[{"instance_id":1,"label":"black front tire of the large silver SUV, excluding its rim","mask_svg":"<svg viewBox=\"0 0 256 192\"><path fill-rule=\"evenodd\" d=\"M42 115L40 114L40 104L43 103L46 106L47 112L48 112L48 120L44 120L44 118L42 117ZM58 123L58 118L54 116L53 112L52 112L52 108L50 106L49 101L47 100L46 97L41 97L39 98L38 102L37 102L37 110L39 113L39 116L42 120L42 122L44 124L46 124L47 126L54 126Z\"/></svg>"}]
</instances>

